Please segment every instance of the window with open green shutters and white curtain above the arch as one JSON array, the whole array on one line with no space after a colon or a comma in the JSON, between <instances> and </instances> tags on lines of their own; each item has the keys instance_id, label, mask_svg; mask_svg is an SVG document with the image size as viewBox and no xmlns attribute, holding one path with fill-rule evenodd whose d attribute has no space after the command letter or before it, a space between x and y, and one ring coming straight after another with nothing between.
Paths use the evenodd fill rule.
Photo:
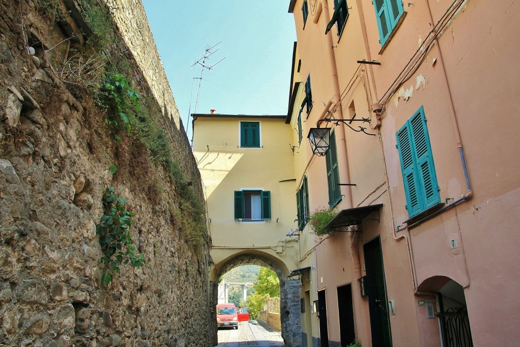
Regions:
<instances>
[{"instance_id":1,"label":"window with open green shutters and white curtain above the arch","mask_svg":"<svg viewBox=\"0 0 520 347\"><path fill-rule=\"evenodd\" d=\"M271 192L267 190L236 190L235 219L249 221L271 219Z\"/></svg>"}]
</instances>

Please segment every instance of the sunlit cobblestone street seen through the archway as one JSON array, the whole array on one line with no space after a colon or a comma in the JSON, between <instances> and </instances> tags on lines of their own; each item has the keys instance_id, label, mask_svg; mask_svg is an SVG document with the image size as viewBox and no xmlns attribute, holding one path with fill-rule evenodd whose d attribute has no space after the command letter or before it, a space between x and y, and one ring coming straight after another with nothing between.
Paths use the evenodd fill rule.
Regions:
<instances>
[{"instance_id":1,"label":"sunlit cobblestone street seen through the archway","mask_svg":"<svg viewBox=\"0 0 520 347\"><path fill-rule=\"evenodd\" d=\"M250 320L240 322L238 330L219 329L218 346L284 347L285 344L279 331L273 330L265 324L261 325L256 320Z\"/></svg>"}]
</instances>

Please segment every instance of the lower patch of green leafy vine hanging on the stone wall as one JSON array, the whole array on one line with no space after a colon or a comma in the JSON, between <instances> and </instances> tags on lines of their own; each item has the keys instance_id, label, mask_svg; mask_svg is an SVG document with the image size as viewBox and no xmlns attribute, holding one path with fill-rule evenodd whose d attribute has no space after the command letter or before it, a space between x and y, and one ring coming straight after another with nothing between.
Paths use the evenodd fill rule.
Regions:
<instances>
[{"instance_id":1,"label":"lower patch of green leafy vine hanging on the stone wall","mask_svg":"<svg viewBox=\"0 0 520 347\"><path fill-rule=\"evenodd\" d=\"M103 252L101 281L108 285L114 274L121 272L122 264L141 267L145 264L145 256L137 253L132 244L130 228L135 214L127 210L128 201L117 194L114 187L110 187L103 196L103 207L105 214L96 226L96 233Z\"/></svg>"}]
</instances>

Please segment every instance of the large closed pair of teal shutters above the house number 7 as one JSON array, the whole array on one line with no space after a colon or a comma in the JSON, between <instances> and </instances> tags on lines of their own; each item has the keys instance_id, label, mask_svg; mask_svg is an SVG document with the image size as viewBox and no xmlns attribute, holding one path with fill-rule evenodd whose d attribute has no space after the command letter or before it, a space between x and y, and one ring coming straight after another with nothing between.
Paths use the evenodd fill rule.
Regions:
<instances>
[{"instance_id":1,"label":"large closed pair of teal shutters above the house number 7","mask_svg":"<svg viewBox=\"0 0 520 347\"><path fill-rule=\"evenodd\" d=\"M405 185L406 209L408 216L412 217L440 202L422 106L397 132L397 149Z\"/></svg>"}]
</instances>

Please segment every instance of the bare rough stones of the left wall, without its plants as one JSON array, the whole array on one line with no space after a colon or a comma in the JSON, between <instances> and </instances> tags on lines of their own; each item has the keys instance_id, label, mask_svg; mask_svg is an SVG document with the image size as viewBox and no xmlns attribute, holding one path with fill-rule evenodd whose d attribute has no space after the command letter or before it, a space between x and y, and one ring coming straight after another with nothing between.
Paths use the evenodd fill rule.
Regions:
<instances>
[{"instance_id":1,"label":"bare rough stones of the left wall, without its plants","mask_svg":"<svg viewBox=\"0 0 520 347\"><path fill-rule=\"evenodd\" d=\"M111 138L106 111L86 88L57 78L60 67L46 55L58 54L71 32L83 47L83 24L73 11L53 24L37 3L0 1L0 345L214 345L207 243L194 249L183 238L174 217L179 187L139 142ZM151 97L173 159L202 198L173 96L155 99L158 84L168 94L165 80L144 78L120 36L109 48L133 67L129 78ZM96 224L111 186L135 212L133 240L147 263L122 266L105 286Z\"/></svg>"}]
</instances>

